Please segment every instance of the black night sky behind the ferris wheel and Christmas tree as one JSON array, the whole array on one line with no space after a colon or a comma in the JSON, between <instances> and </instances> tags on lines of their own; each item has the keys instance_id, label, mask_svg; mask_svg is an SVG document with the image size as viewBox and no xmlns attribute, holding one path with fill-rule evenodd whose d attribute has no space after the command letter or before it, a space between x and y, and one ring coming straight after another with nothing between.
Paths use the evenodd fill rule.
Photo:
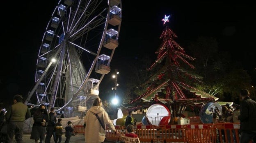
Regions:
<instances>
[{"instance_id":1,"label":"black night sky behind the ferris wheel and Christmas tree","mask_svg":"<svg viewBox=\"0 0 256 143\"><path fill-rule=\"evenodd\" d=\"M14 94L25 96L32 89L43 32L57 2L3 1L3 6L9 10L1 9L0 102L12 102L10 98ZM123 0L119 47L113 56L111 69L126 70L129 60L154 54L164 28L161 20L166 14L171 15L168 25L185 51L187 43L198 36L214 37L219 43L219 51L229 51L233 60L242 62L245 70L255 75L255 4L144 2ZM129 77L120 76L122 81ZM255 76L253 78L255 83Z\"/></svg>"}]
</instances>

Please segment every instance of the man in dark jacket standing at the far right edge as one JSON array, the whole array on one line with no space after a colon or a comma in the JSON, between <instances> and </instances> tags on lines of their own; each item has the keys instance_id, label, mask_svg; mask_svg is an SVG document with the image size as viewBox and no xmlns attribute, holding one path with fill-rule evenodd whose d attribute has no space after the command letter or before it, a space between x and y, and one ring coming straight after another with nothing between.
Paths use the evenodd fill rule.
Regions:
<instances>
[{"instance_id":1,"label":"man in dark jacket standing at the far right edge","mask_svg":"<svg viewBox=\"0 0 256 143\"><path fill-rule=\"evenodd\" d=\"M237 116L240 120L240 143L249 143L252 139L256 143L256 102L251 100L247 89L241 89L240 97L240 116Z\"/></svg>"}]
</instances>

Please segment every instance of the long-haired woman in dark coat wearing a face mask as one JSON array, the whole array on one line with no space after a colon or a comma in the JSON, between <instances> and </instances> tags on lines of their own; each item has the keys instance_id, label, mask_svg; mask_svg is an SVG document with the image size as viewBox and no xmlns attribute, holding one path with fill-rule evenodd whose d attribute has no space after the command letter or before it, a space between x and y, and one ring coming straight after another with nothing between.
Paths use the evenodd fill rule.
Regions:
<instances>
[{"instance_id":1,"label":"long-haired woman in dark coat wearing a face mask","mask_svg":"<svg viewBox=\"0 0 256 143\"><path fill-rule=\"evenodd\" d=\"M49 123L49 115L45 105L40 105L33 115L34 124L32 127L30 139L34 139L35 143L43 143L46 134L46 127Z\"/></svg>"}]
</instances>

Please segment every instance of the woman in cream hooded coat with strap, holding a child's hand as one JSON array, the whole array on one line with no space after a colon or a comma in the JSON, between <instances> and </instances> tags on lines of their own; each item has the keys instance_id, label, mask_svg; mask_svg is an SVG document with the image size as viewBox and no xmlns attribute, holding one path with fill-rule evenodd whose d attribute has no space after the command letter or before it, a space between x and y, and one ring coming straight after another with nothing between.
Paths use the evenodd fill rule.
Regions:
<instances>
[{"instance_id":1,"label":"woman in cream hooded coat with strap, holding a child's hand","mask_svg":"<svg viewBox=\"0 0 256 143\"><path fill-rule=\"evenodd\" d=\"M103 127L107 125L112 132L116 133L118 136L120 135L119 132L114 127L114 124L110 120L107 112L102 107L102 101L100 98L96 98L92 107L87 111L87 114L84 118L84 123L86 124L85 127L85 142L86 143L102 143L105 140L105 129L101 126L98 118L101 120Z\"/></svg>"}]
</instances>

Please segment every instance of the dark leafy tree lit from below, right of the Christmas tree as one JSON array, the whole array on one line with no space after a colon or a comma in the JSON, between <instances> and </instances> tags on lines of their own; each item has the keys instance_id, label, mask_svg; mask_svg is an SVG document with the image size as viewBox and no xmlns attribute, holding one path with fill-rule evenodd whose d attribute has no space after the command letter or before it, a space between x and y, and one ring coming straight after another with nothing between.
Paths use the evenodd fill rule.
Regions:
<instances>
[{"instance_id":1,"label":"dark leafy tree lit from below, right of the Christmas tree","mask_svg":"<svg viewBox=\"0 0 256 143\"><path fill-rule=\"evenodd\" d=\"M251 96L255 96L255 89L251 86L251 78L240 63L232 62L231 56L225 51L218 50L215 38L199 37L188 47L195 58L197 74L203 76L203 84L197 88L220 98L220 100L234 101L242 88L249 89ZM231 99L225 99L225 96Z\"/></svg>"}]
</instances>

